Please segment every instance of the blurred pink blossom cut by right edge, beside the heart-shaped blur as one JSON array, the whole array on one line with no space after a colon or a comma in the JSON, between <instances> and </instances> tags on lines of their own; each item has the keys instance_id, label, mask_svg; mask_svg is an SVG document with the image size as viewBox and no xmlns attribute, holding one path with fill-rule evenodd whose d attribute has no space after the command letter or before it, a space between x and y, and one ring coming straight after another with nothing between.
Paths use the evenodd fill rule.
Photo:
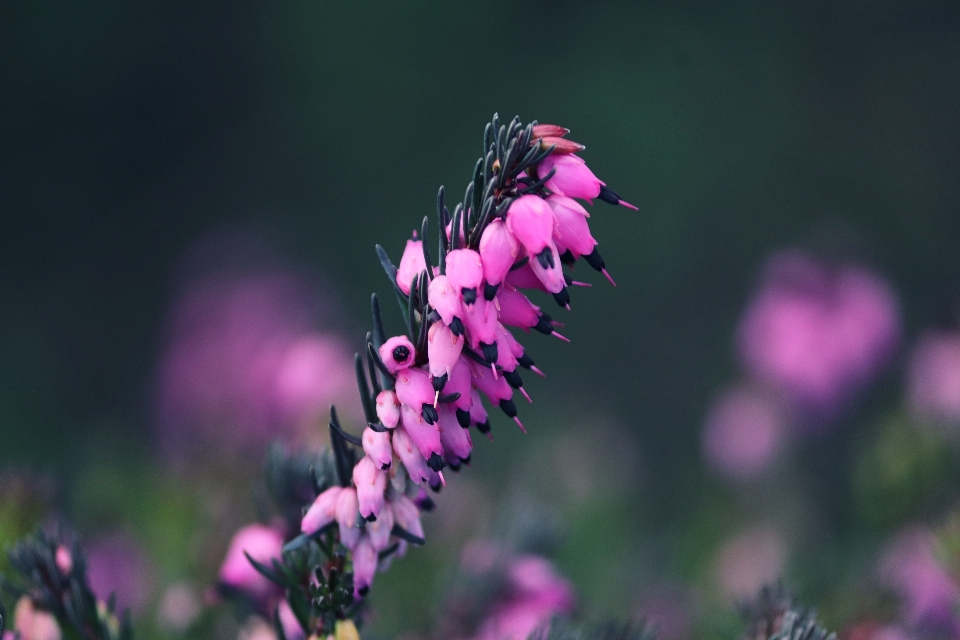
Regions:
<instances>
[{"instance_id":1,"label":"blurred pink blossom cut by right edge, beside the heart-shaped blur","mask_svg":"<svg viewBox=\"0 0 960 640\"><path fill-rule=\"evenodd\" d=\"M918 417L960 422L960 332L929 332L910 357L908 394Z\"/></svg>"}]
</instances>

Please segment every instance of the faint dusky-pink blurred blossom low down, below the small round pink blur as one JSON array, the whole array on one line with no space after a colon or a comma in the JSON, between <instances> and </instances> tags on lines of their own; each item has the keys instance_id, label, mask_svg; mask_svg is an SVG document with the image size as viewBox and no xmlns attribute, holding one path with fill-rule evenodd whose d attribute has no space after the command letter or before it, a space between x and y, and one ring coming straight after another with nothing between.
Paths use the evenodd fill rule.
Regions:
<instances>
[{"instance_id":1,"label":"faint dusky-pink blurred blossom low down, below the small round pink blur","mask_svg":"<svg viewBox=\"0 0 960 640\"><path fill-rule=\"evenodd\" d=\"M787 543L779 531L752 525L728 540L717 555L715 575L721 593L731 599L753 597L779 580L787 563Z\"/></svg>"}]
</instances>

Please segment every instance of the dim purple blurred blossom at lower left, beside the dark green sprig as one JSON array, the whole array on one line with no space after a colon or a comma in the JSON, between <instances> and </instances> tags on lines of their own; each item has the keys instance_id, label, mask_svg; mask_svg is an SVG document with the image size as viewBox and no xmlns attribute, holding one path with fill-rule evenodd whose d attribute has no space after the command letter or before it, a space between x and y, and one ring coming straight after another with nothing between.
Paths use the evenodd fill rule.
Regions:
<instances>
[{"instance_id":1,"label":"dim purple blurred blossom at lower left, beside the dark green sprig","mask_svg":"<svg viewBox=\"0 0 960 640\"><path fill-rule=\"evenodd\" d=\"M87 578L97 598L106 602L116 594L117 610L130 609L141 615L153 591L150 562L140 545L129 535L110 533L85 545Z\"/></svg>"}]
</instances>

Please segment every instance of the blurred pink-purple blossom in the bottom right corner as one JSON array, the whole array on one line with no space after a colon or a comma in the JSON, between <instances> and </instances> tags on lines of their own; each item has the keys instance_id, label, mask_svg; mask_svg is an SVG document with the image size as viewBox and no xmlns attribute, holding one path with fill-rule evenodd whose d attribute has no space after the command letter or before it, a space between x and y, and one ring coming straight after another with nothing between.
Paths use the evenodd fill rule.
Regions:
<instances>
[{"instance_id":1,"label":"blurred pink-purple blossom in the bottom right corner","mask_svg":"<svg viewBox=\"0 0 960 640\"><path fill-rule=\"evenodd\" d=\"M881 558L880 581L900 596L908 624L960 632L955 614L960 587L937 562L934 544L926 529L901 533Z\"/></svg>"}]
</instances>

